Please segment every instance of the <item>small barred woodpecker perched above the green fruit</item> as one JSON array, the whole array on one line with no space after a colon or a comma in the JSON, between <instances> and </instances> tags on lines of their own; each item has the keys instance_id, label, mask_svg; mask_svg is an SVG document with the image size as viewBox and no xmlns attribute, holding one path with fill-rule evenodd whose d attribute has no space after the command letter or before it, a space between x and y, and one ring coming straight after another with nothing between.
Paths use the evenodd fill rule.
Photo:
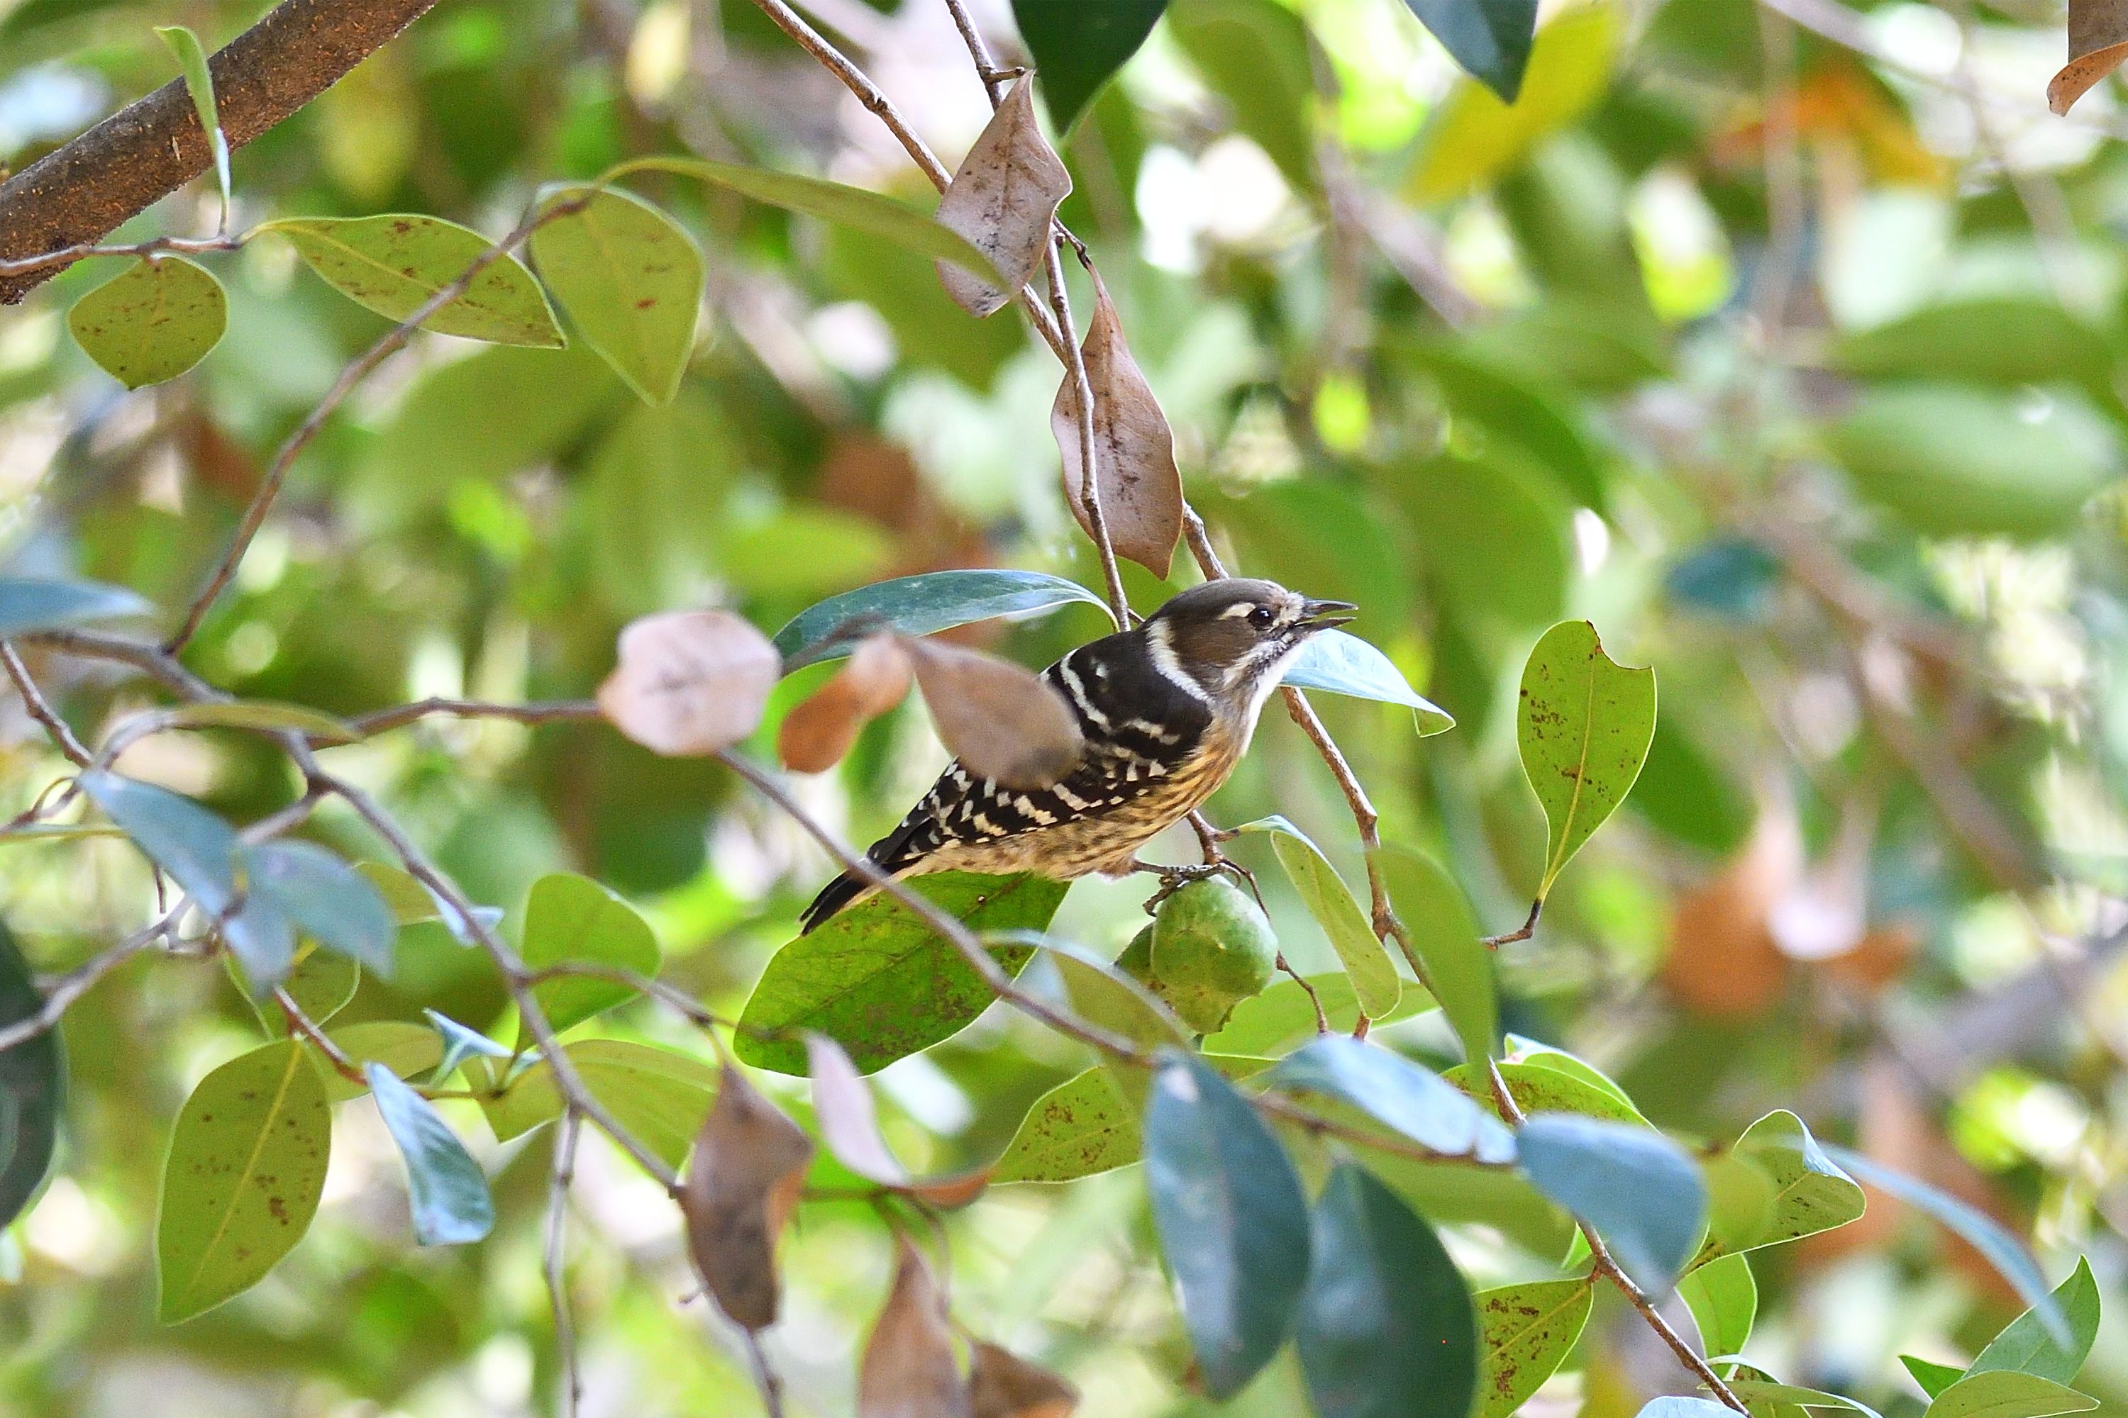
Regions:
<instances>
[{"instance_id":1,"label":"small barred woodpecker perched above the green fruit","mask_svg":"<svg viewBox=\"0 0 2128 1418\"><path fill-rule=\"evenodd\" d=\"M1345 602L1268 580L1211 580L1136 629L1081 644L1043 672L1085 736L1058 784L1004 789L951 763L866 853L894 876L1038 872L1070 880L1132 870L1136 850L1226 782L1264 699L1300 644ZM800 918L811 931L870 884L843 874Z\"/></svg>"}]
</instances>

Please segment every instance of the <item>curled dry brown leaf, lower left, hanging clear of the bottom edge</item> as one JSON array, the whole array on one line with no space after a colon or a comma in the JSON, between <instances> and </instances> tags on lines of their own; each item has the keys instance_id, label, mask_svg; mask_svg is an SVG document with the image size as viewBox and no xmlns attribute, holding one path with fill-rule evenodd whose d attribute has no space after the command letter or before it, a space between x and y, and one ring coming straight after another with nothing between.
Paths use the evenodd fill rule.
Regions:
<instances>
[{"instance_id":1,"label":"curled dry brown leaf, lower left, hanging clear of the bottom edge","mask_svg":"<svg viewBox=\"0 0 2128 1418\"><path fill-rule=\"evenodd\" d=\"M734 1324L777 1322L777 1235L798 1205L813 1142L730 1063L681 1184L687 1250Z\"/></svg>"}]
</instances>

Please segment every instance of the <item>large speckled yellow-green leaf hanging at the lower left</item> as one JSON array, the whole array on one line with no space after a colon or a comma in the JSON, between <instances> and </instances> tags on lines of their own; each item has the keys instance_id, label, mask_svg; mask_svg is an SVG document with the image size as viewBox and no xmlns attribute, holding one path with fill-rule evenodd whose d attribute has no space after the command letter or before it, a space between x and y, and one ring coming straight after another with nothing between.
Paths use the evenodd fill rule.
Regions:
<instances>
[{"instance_id":1,"label":"large speckled yellow-green leaf hanging at the lower left","mask_svg":"<svg viewBox=\"0 0 2128 1418\"><path fill-rule=\"evenodd\" d=\"M200 1080L170 1131L155 1218L157 1314L189 1320L249 1290L317 1214L332 1112L296 1040Z\"/></svg>"}]
</instances>

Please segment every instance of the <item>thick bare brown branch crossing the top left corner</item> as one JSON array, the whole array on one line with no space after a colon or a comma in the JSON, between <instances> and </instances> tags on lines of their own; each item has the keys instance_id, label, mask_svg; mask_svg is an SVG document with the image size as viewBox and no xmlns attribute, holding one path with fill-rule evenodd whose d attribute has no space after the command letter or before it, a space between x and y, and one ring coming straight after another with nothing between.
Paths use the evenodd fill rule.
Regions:
<instances>
[{"instance_id":1,"label":"thick bare brown branch crossing the top left corner","mask_svg":"<svg viewBox=\"0 0 2128 1418\"><path fill-rule=\"evenodd\" d=\"M209 57L221 130L243 147L362 64L436 0L285 0ZM47 153L0 185L0 259L102 240L213 162L185 81L147 98ZM64 270L0 276L15 304Z\"/></svg>"}]
</instances>

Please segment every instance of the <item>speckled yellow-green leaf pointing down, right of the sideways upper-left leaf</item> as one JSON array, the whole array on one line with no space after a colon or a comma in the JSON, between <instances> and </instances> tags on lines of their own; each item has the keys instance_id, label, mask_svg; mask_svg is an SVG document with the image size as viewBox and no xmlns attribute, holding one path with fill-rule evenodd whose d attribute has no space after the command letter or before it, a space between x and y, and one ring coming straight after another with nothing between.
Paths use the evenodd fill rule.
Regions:
<instances>
[{"instance_id":1,"label":"speckled yellow-green leaf pointing down, right of the sideways upper-left leaf","mask_svg":"<svg viewBox=\"0 0 2128 1418\"><path fill-rule=\"evenodd\" d=\"M628 191L560 187L545 206L577 198L583 210L532 232L532 261L621 383L647 404L668 404L694 351L702 251L683 225Z\"/></svg>"}]
</instances>

